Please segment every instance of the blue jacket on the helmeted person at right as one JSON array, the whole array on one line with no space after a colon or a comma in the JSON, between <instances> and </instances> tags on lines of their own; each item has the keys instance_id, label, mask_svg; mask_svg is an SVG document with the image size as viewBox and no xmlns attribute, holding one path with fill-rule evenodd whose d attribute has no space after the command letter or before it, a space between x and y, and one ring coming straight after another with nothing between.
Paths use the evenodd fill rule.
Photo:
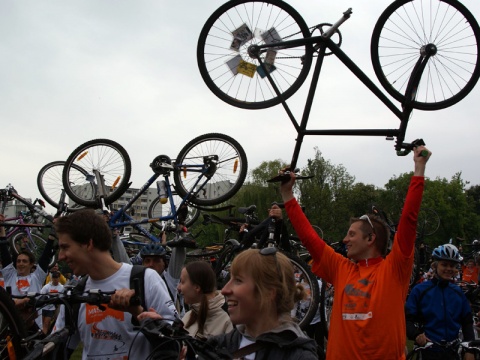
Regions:
<instances>
[{"instance_id":1,"label":"blue jacket on the helmeted person at right","mask_svg":"<svg viewBox=\"0 0 480 360\"><path fill-rule=\"evenodd\" d=\"M405 304L407 336L425 332L434 342L453 341L460 328L465 341L474 340L470 304L458 285L437 278L415 286Z\"/></svg>"}]
</instances>

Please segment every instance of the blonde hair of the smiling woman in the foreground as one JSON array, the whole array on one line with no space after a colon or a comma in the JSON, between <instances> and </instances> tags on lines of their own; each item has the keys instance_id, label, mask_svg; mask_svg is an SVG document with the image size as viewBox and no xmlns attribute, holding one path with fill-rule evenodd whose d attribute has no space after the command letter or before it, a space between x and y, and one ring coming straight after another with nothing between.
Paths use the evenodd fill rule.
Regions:
<instances>
[{"instance_id":1,"label":"blonde hair of the smiling woman in the foreground","mask_svg":"<svg viewBox=\"0 0 480 360\"><path fill-rule=\"evenodd\" d=\"M271 306L269 294L274 290L277 315L289 313L295 302L306 297L306 291L302 285L297 284L293 271L292 263L281 252L262 255L258 249L241 252L235 257L230 268L232 276L241 273L253 279L260 309Z\"/></svg>"}]
</instances>

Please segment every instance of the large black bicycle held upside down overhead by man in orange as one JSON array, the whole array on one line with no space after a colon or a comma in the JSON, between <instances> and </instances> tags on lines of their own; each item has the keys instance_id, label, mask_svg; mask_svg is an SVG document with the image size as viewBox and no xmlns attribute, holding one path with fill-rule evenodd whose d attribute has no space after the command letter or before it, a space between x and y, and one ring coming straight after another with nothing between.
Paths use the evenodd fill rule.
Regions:
<instances>
[{"instance_id":1,"label":"large black bicycle held upside down overhead by man in orange","mask_svg":"<svg viewBox=\"0 0 480 360\"><path fill-rule=\"evenodd\" d=\"M290 162L295 168L306 135L384 136L404 143L413 109L439 110L462 100L480 77L480 28L457 0L396 0L381 14L372 33L372 65L397 107L341 49L340 26L308 27L281 0L232 0L206 21L197 44L197 64L208 88L226 103L244 109L282 104L295 130ZM325 56L335 55L400 120L393 129L307 129ZM317 58L299 123L287 100L305 82Z\"/></svg>"}]
</instances>

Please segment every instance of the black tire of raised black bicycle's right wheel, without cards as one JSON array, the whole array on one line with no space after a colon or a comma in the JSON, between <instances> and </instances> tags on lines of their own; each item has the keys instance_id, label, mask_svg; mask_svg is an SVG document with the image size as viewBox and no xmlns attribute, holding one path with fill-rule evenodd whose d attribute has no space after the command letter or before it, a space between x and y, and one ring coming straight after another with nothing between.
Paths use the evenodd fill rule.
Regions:
<instances>
[{"instance_id":1,"label":"black tire of raised black bicycle's right wheel, without cards","mask_svg":"<svg viewBox=\"0 0 480 360\"><path fill-rule=\"evenodd\" d=\"M387 80L386 76L383 73L382 65L380 64L380 57L379 57L378 50L379 50L379 40L381 38L381 31L383 30L385 23L388 21L388 18L398 8L400 8L401 6L411 1L413 0L396 0L393 3L391 3L383 11L383 13L378 18L377 23L374 27L374 30L372 33L372 40L370 44L372 65L379 82L393 98L400 101L401 103L405 102L405 95L401 94L395 88L393 88L392 84L390 84L390 82ZM456 104L471 92L471 90L474 88L474 86L476 85L480 77L480 27L475 17L463 4L461 4L456 0L439 0L439 1L444 2L445 4L451 5L457 11L459 11L463 16L465 16L465 18L468 20L477 42L477 61L476 61L475 69L472 72L472 76L470 80L457 94L443 101L434 102L434 103L424 103L424 102L419 102L417 100L414 100L411 103L411 105L413 108L418 110L440 110Z\"/></svg>"}]
</instances>

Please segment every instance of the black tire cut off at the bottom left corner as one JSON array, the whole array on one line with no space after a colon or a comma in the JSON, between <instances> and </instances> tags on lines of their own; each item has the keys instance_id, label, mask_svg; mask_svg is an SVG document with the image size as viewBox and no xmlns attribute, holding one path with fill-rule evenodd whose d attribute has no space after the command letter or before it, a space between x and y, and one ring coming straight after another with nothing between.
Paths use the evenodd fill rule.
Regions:
<instances>
[{"instance_id":1,"label":"black tire cut off at the bottom left corner","mask_svg":"<svg viewBox=\"0 0 480 360\"><path fill-rule=\"evenodd\" d=\"M0 287L0 316L5 319L13 332L12 345L17 359L22 359L26 354L21 345L21 340L26 337L24 321L15 308L11 296ZM7 351L5 349L5 351Z\"/></svg>"}]
</instances>

